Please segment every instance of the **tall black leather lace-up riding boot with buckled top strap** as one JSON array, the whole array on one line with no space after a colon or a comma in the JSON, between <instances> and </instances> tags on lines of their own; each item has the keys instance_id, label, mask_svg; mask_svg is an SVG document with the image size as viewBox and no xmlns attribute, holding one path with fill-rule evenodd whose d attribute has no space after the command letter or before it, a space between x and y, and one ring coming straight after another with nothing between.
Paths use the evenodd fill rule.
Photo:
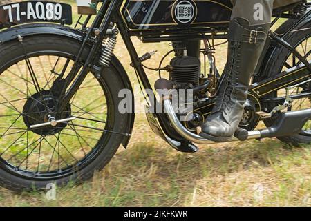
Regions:
<instances>
[{"instance_id":1,"label":"tall black leather lace-up riding boot with buckled top strap","mask_svg":"<svg viewBox=\"0 0 311 221\"><path fill-rule=\"evenodd\" d=\"M249 81L263 52L269 29L270 23L250 26L249 21L241 17L230 22L224 78L216 105L202 124L202 137L215 142L232 140L241 122Z\"/></svg>"}]
</instances>

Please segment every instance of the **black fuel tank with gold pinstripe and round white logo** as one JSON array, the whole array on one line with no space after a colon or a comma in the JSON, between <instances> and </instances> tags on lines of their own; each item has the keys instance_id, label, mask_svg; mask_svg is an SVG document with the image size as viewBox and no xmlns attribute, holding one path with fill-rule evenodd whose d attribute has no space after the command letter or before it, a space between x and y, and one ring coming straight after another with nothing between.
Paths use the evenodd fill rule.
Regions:
<instances>
[{"instance_id":1,"label":"black fuel tank with gold pinstripe and round white logo","mask_svg":"<svg viewBox=\"0 0 311 221\"><path fill-rule=\"evenodd\" d=\"M122 15L131 30L227 26L230 0L127 0Z\"/></svg>"}]
</instances>

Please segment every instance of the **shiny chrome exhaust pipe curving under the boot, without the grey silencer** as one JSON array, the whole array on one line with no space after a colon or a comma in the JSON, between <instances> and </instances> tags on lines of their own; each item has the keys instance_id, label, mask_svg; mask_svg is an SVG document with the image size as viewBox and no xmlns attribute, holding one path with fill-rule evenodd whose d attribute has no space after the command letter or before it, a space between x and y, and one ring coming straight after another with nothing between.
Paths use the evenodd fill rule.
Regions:
<instances>
[{"instance_id":1,"label":"shiny chrome exhaust pipe curving under the boot, without the grey silencer","mask_svg":"<svg viewBox=\"0 0 311 221\"><path fill-rule=\"evenodd\" d=\"M169 116L169 121L171 122L171 125L176 130L176 132L184 137L185 139L189 140L190 142L194 142L196 144L216 144L218 142L214 142L211 140L207 140L204 137L201 137L200 135L197 135L195 133L191 133L190 131L185 128L185 126L180 123L180 120L178 119L173 105L171 104L171 100L169 99L169 96L164 97L164 113L167 113ZM246 140L252 140L252 139L259 139L261 138L261 131L249 131L248 136ZM230 142L239 141L238 138L234 137Z\"/></svg>"}]
</instances>

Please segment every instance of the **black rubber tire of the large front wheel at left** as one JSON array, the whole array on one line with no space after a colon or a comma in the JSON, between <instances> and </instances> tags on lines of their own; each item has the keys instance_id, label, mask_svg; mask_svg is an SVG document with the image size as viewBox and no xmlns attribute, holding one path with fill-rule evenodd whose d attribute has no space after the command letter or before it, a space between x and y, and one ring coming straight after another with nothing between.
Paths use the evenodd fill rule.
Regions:
<instances>
[{"instance_id":1,"label":"black rubber tire of the large front wheel at left","mask_svg":"<svg viewBox=\"0 0 311 221\"><path fill-rule=\"evenodd\" d=\"M50 52L64 52L64 54L77 55L81 42L68 37L57 37L51 35L39 35L32 37L25 37L23 44L29 54L32 52L50 51ZM23 48L19 41L10 41L0 46L0 74L3 70L6 70L7 66L12 64L12 60L24 55ZM86 59L89 48L87 47L83 53L82 61ZM118 92L124 88L120 83L120 75L118 74L118 67L113 66L107 69L108 73L97 77L98 82L105 88L105 93L109 97L109 105L111 111L110 120L113 122L109 128L110 131L117 131L120 133L126 132L126 126L124 122L127 122L128 115L120 114L117 110L117 106L120 102L120 98L117 97ZM113 155L115 155L119 148L124 135L117 133L105 133L100 135L100 140L94 147L94 154L89 162L81 168L73 166L73 173L64 174L62 176L51 177L28 177L19 171L8 169L6 160L0 157L0 185L13 191L32 191L33 189L41 190L46 189L46 185L50 183L57 184L57 186L64 186L70 183L79 184L85 180L90 179L93 176L94 171L103 169L106 164L110 162ZM39 164L39 163L38 163Z\"/></svg>"}]
</instances>

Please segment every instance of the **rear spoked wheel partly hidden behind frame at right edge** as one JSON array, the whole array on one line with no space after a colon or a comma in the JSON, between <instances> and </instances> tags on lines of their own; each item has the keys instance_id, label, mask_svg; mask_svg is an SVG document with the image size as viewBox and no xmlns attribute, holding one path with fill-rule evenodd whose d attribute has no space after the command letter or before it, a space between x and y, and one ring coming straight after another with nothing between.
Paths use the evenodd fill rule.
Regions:
<instances>
[{"instance_id":1,"label":"rear spoked wheel partly hidden behind frame at right edge","mask_svg":"<svg viewBox=\"0 0 311 221\"><path fill-rule=\"evenodd\" d=\"M299 32L294 32L288 37L288 42L298 50L305 59L311 62L311 21L306 24L306 29ZM273 77L277 73L281 73L284 70L288 70L294 66L301 64L301 61L297 59L292 53L288 52L285 48L280 48L277 52L276 59L270 65L270 77ZM307 80L307 79L305 79ZM299 95L301 93L311 92L311 83L303 84L299 87L292 88L290 95ZM285 89L277 90L275 93L267 95L266 98L285 97ZM268 110L272 110L275 105L266 104ZM299 111L307 108L311 108L311 97L303 97L300 99L294 99L292 106L288 108L288 111ZM266 119L264 122L267 126L271 126L274 121L278 120L278 116ZM288 137L279 137L280 140L286 143L299 145L303 143L311 142L311 121L308 121L303 126L303 131L299 135L292 135Z\"/></svg>"}]
</instances>

